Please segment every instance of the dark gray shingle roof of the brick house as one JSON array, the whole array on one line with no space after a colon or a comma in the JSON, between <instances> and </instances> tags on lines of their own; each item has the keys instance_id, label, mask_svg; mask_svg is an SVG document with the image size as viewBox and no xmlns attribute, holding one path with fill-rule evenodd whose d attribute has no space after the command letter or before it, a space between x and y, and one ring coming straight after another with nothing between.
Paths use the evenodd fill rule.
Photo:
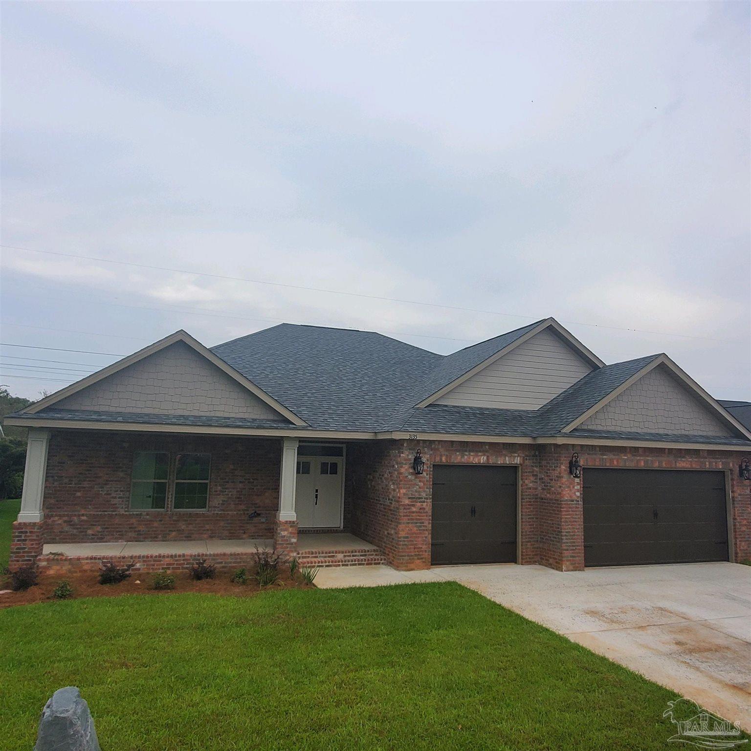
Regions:
<instances>
[{"instance_id":1,"label":"dark gray shingle roof of the brick house","mask_svg":"<svg viewBox=\"0 0 751 751\"><path fill-rule=\"evenodd\" d=\"M415 404L456 380L537 326L540 321L487 339L454 354L435 354L371 332L279 324L217 345L214 354L299 415L303 430L457 433L478 436L562 436L562 429L623 385L659 355L596 368L538 410L480 409ZM751 407L751 406L749 406ZM742 406L730 409L744 409ZM290 427L279 421L191 415L60 410L35 417L71 421L122 421L214 427ZM749 444L744 439L573 430L576 438L622 438L707 444Z\"/></svg>"}]
</instances>

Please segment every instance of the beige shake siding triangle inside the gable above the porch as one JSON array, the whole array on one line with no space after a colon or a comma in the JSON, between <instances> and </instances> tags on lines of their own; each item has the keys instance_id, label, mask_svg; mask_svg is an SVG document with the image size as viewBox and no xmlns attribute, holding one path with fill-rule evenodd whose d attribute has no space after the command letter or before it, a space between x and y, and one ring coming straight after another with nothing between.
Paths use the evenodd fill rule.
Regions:
<instances>
[{"instance_id":1,"label":"beige shake siding triangle inside the gable above the porch","mask_svg":"<svg viewBox=\"0 0 751 751\"><path fill-rule=\"evenodd\" d=\"M185 342L150 354L55 406L103 412L285 420Z\"/></svg>"}]
</instances>

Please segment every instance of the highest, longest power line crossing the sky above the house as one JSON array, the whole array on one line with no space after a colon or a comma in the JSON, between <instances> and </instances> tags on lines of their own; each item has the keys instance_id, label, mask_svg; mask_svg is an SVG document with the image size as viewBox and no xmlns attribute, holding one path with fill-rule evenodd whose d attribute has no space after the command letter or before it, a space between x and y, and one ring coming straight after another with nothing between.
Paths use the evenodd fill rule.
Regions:
<instances>
[{"instance_id":1,"label":"highest, longest power line crossing the sky above the house","mask_svg":"<svg viewBox=\"0 0 751 751\"><path fill-rule=\"evenodd\" d=\"M38 249L32 249L32 248L21 248L19 246L2 245L2 244L0 244L0 248L6 248L8 250L21 250L21 251L29 252L29 253L43 253L44 255L58 255L64 258L78 258L81 261L97 261L98 263L103 263L103 264L116 264L119 266L133 266L133 267L149 269L149 270L154 270L154 271L169 271L170 273L192 274L193 276L206 276L207 278L210 278L210 279L224 279L225 281L231 281L231 282L248 282L250 284L262 284L262 285L268 285L271 287L284 287L288 289L299 289L299 290L305 290L309 292L322 292L324 294L339 294L345 297L360 297L366 300L382 300L382 301L390 302L390 303L421 305L421 306L427 306L431 308L442 308L445 310L461 310L463 312L482 313L484 315L502 315L502 316L505 316L506 318L529 318L531 321L535 321L537 318L534 315L523 315L520 313L503 313L497 310L465 308L465 307L457 306L457 305L442 305L441 303L427 303L424 300L404 300L400 297L384 297L382 295L363 294L360 292L346 292L346 291L342 291L338 289L326 289L326 288L321 288L321 287L304 287L302 285L285 284L282 282L268 282L266 279L249 279L244 276L227 276L224 274L213 274L213 273L208 273L204 271L176 269L176 268L168 267L168 266L152 266L149 264L137 264L137 263L134 263L134 261L116 261L112 258L97 258L96 256L92 256L92 255L76 255L74 253L62 253L62 252L53 251L53 250L38 250ZM256 319L256 320L263 320L263 319ZM561 323L575 325L575 326L590 326L594 328L605 328L605 329L612 329L612 330L617 330L617 331L634 331L637 333L650 333L650 334L656 334L659 336L679 336L682 339L708 339L710 341L726 341L726 342L733 341L733 339L716 339L716 337L713 337L713 336L692 336L691 334L685 334L685 333L668 333L667 331L650 331L650 330L635 329L635 328L629 328L629 327L606 326L604 324L590 324L590 323L584 323L583 321L566 321L564 319L561 319ZM409 336L416 336L416 335L410 334ZM441 339L443 337L434 337L434 338Z\"/></svg>"}]
</instances>

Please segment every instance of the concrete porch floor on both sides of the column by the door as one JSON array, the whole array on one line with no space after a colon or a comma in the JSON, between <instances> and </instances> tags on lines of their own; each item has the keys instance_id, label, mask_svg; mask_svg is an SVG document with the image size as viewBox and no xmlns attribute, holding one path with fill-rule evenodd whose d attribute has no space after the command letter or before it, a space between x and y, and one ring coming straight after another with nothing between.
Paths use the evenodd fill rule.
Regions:
<instances>
[{"instance_id":1,"label":"concrete porch floor on both sides of the column by the door","mask_svg":"<svg viewBox=\"0 0 751 751\"><path fill-rule=\"evenodd\" d=\"M156 542L50 542L44 545L43 555L63 553L69 557L82 556L140 556L153 553L252 553L273 548L273 540L164 540ZM348 532L306 532L297 538L297 550L378 550L374 544Z\"/></svg>"}]
</instances>

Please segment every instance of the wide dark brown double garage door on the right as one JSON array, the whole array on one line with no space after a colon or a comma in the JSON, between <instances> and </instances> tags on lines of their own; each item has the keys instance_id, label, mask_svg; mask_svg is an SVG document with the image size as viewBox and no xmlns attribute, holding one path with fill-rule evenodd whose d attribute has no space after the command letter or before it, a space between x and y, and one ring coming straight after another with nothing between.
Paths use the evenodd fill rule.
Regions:
<instances>
[{"instance_id":1,"label":"wide dark brown double garage door on the right","mask_svg":"<svg viewBox=\"0 0 751 751\"><path fill-rule=\"evenodd\" d=\"M584 565L728 560L725 474L584 469Z\"/></svg>"}]
</instances>

